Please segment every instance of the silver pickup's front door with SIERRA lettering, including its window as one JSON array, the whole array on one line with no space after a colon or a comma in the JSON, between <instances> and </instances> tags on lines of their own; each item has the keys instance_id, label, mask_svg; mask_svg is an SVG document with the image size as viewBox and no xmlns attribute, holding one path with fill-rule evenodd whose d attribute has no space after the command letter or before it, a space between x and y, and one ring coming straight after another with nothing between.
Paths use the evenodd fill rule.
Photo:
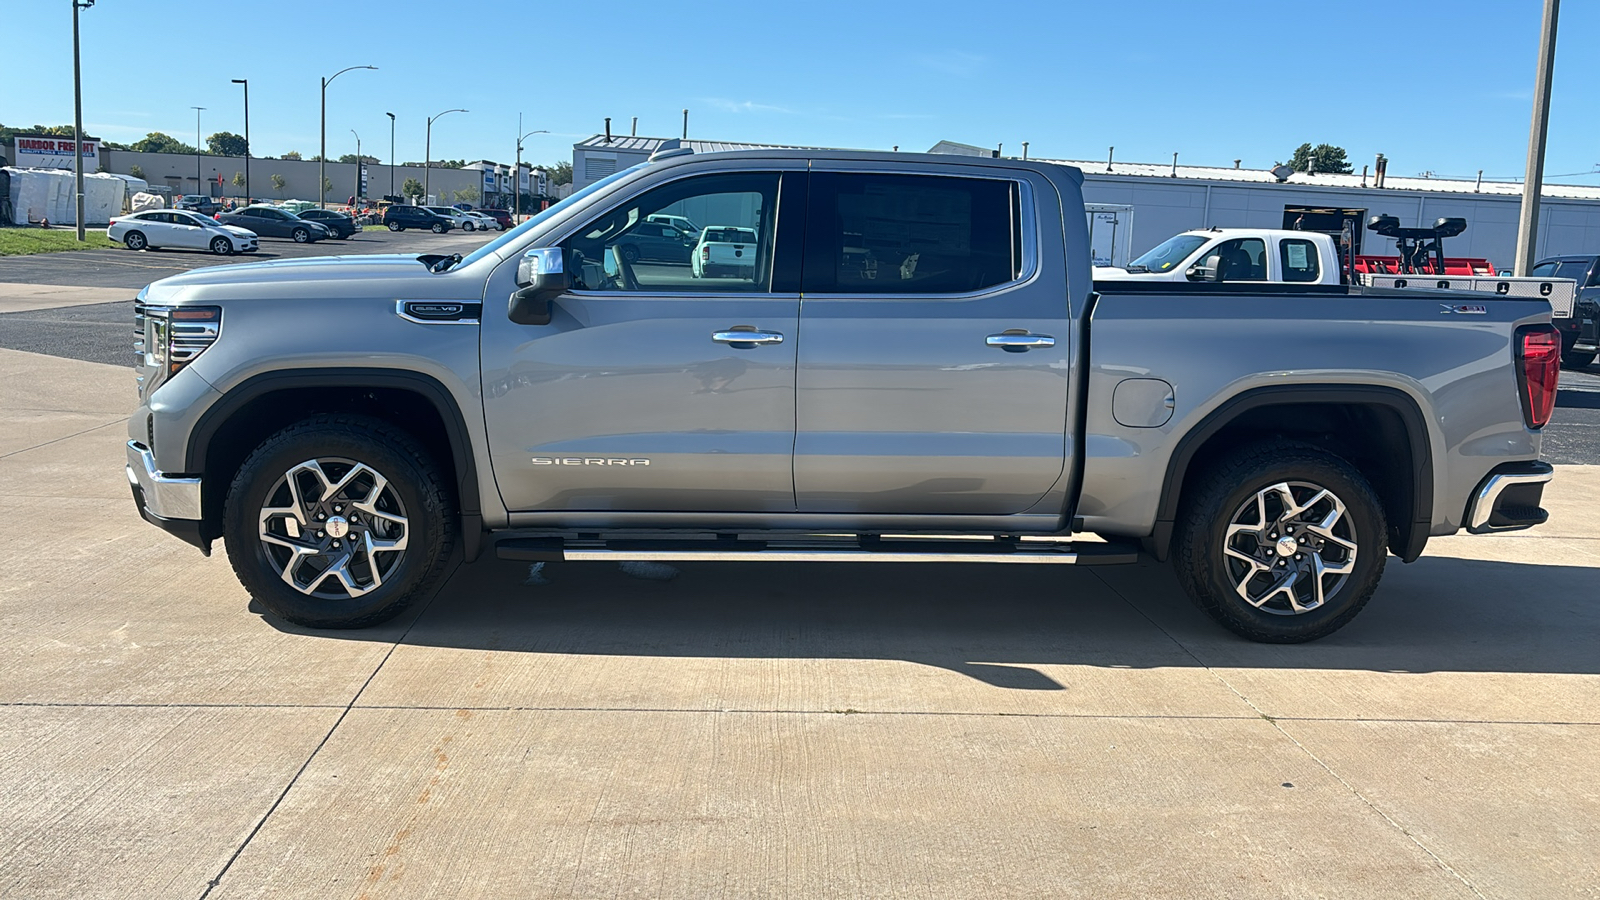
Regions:
<instances>
[{"instance_id":1,"label":"silver pickup's front door with SIERRA lettering, including its window","mask_svg":"<svg viewBox=\"0 0 1600 900\"><path fill-rule=\"evenodd\" d=\"M496 269L483 407L507 509L794 511L800 296L797 274L779 275L787 291L774 291L773 271L779 208L803 237L803 178L680 176L600 211L560 239L574 290L552 303L549 325L506 319L515 259ZM696 279L688 253L638 251L640 226L666 227L650 215L747 227L758 263Z\"/></svg>"}]
</instances>

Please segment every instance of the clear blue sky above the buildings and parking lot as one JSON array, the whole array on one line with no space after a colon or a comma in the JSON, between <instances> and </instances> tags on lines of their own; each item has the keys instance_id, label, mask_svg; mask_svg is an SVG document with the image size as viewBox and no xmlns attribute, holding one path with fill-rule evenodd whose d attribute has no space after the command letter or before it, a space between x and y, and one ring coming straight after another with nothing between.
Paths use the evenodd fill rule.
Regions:
<instances>
[{"instance_id":1,"label":"clear blue sky above the buildings and parking lot","mask_svg":"<svg viewBox=\"0 0 1600 900\"><path fill-rule=\"evenodd\" d=\"M72 120L67 0L6 0L0 122ZM1378 152L1392 175L1517 178L1539 0L1054 3L875 0L558 3L501 0L99 0L83 13L83 119L133 141L243 131L230 78L250 78L258 154L571 159L603 117L626 133L925 151L939 139L1008 154L1267 167L1302 141ZM518 46L509 48L507 38ZM154 53L141 43L157 40ZM194 50L194 48L203 50ZM1600 3L1562 10L1546 171L1600 163ZM424 64L426 61L426 64ZM1600 184L1600 176L1563 178Z\"/></svg>"}]
</instances>

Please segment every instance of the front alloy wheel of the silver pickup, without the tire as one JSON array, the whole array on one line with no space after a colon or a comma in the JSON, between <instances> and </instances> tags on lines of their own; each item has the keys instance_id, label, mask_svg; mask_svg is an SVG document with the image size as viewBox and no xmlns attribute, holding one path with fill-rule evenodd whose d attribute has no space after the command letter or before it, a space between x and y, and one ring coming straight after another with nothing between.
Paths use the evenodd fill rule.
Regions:
<instances>
[{"instance_id":1,"label":"front alloy wheel of the silver pickup, without the tire","mask_svg":"<svg viewBox=\"0 0 1600 900\"><path fill-rule=\"evenodd\" d=\"M306 460L267 492L261 549L285 585L350 599L384 585L405 560L410 524L382 474L346 458Z\"/></svg>"}]
</instances>

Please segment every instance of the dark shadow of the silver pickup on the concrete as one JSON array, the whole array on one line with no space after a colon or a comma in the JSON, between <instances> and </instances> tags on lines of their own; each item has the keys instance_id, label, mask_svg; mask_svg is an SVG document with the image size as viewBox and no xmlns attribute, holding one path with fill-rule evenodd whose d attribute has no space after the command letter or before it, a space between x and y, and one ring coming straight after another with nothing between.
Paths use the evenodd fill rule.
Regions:
<instances>
[{"instance_id":1,"label":"dark shadow of the silver pickup on the concrete","mask_svg":"<svg viewBox=\"0 0 1600 900\"><path fill-rule=\"evenodd\" d=\"M1530 551L1536 543L1530 541ZM1314 644L1251 644L1171 572L960 564L690 564L670 581L602 562L458 565L403 644L494 652L904 660L995 687L1061 690L1037 666L1382 673L1600 673L1600 569L1390 557L1355 621ZM253 607L254 609L254 607ZM259 609L256 609L259 612ZM306 631L394 641L395 628Z\"/></svg>"}]
</instances>

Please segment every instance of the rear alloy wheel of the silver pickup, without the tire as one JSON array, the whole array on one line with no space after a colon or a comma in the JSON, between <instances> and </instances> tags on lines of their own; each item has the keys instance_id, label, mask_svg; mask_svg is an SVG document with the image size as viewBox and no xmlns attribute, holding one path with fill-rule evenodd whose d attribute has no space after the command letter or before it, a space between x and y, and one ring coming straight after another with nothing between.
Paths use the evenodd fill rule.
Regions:
<instances>
[{"instance_id":1,"label":"rear alloy wheel of the silver pickup, without the tire","mask_svg":"<svg viewBox=\"0 0 1600 900\"><path fill-rule=\"evenodd\" d=\"M1245 602L1274 615L1320 609L1355 570L1355 524L1344 501L1309 482L1278 482L1229 519L1222 556Z\"/></svg>"}]
</instances>

